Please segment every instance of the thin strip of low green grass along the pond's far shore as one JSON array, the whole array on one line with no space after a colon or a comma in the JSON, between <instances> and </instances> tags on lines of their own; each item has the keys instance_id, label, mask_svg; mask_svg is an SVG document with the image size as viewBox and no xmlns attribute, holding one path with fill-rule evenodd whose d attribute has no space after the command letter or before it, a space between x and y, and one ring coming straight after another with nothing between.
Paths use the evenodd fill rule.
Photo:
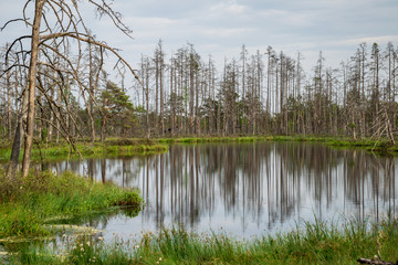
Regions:
<instances>
[{"instance_id":1,"label":"thin strip of low green grass along the pond's far shore","mask_svg":"<svg viewBox=\"0 0 398 265\"><path fill-rule=\"evenodd\" d=\"M184 137L184 138L109 138L104 142L78 141L75 144L77 150L84 158L92 157L118 157L134 155L151 155L165 152L171 144L199 144L199 142L255 142L255 141L307 141L322 142L332 147L342 148L366 148L369 151L398 153L398 145L390 146L385 139L354 140L342 137L322 136L240 136L240 137ZM0 146L0 161L9 160L11 147L8 144ZM22 159L21 150L20 159ZM78 153L72 150L66 142L42 142L34 145L32 149L33 161L50 161L59 159L78 158Z\"/></svg>"}]
</instances>

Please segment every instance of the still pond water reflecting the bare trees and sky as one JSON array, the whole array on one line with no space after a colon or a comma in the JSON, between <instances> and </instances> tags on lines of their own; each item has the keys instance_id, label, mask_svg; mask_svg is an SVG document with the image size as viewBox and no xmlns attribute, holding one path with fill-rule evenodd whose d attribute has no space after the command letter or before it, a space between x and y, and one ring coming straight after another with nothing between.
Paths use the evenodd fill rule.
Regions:
<instances>
[{"instance_id":1,"label":"still pond water reflecting the bare trees and sky","mask_svg":"<svg viewBox=\"0 0 398 265\"><path fill-rule=\"evenodd\" d=\"M398 210L396 158L318 144L172 145L149 157L100 158L48 165L96 181L138 188L135 218L91 222L104 236L181 224L197 232L251 237L289 231L301 221L379 220Z\"/></svg>"}]
</instances>

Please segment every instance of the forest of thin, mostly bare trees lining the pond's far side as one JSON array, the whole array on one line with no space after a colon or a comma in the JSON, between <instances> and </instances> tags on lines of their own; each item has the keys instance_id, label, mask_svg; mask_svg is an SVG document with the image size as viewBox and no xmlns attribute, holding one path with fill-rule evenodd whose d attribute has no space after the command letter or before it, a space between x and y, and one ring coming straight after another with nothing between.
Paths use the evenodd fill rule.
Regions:
<instances>
[{"instance_id":1,"label":"forest of thin, mostly bare trees lining the pond's far side","mask_svg":"<svg viewBox=\"0 0 398 265\"><path fill-rule=\"evenodd\" d=\"M153 55L142 56L134 84L125 84L124 66L117 67L119 82L111 80L103 47L78 43L75 54L74 45L54 40L40 50L39 141L296 134L394 141L398 50L392 43L360 43L338 68L328 67L320 52L313 71L304 72L301 53L291 57L271 46L249 54L242 45L238 59L217 68L193 44L167 56L159 41ZM21 61L27 59L14 46L1 49L0 64L9 70L1 75L0 129L10 141L28 78Z\"/></svg>"}]
</instances>

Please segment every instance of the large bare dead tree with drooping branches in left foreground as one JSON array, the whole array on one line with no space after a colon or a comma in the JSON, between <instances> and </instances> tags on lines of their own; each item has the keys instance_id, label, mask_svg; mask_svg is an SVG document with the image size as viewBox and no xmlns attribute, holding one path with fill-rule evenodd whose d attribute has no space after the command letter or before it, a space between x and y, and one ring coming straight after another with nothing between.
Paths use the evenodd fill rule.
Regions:
<instances>
[{"instance_id":1,"label":"large bare dead tree with drooping branches in left foreground","mask_svg":"<svg viewBox=\"0 0 398 265\"><path fill-rule=\"evenodd\" d=\"M100 17L109 18L118 30L130 38L132 31L122 22L121 13L115 12L105 0L88 0L88 2L94 6ZM33 21L28 15L28 9L31 4L34 4ZM22 132L24 132L22 176L28 176L36 124L35 109L39 93L54 114L53 117L55 117L56 123L53 123L52 126L75 149L73 137L65 126L66 119L67 124L76 123L73 116L70 115L71 108L67 100L71 93L70 84L72 82L77 84L78 93L87 95L87 98L91 102L93 100L91 93L93 84L85 84L78 74L84 45L88 45L90 49L92 46L98 47L101 55L104 51L108 51L117 57L117 64L124 64L138 81L138 76L132 66L118 54L116 49L92 36L83 22L78 6L80 3L76 0L28 0L23 7L23 18L8 21L1 28L1 31L3 31L9 23L22 22L31 29L31 34L17 38L9 45L4 60L9 67L1 73L2 76L14 67L21 67L21 62L23 64L24 61L29 61L29 64L22 65L28 71L27 86L22 93L27 99L25 105L22 104L22 112L15 128L13 156L11 156L8 170L9 177L12 177L15 172ZM25 49L25 46L30 49ZM70 53L73 52L76 53L76 56L71 56ZM45 86L44 84L51 85ZM56 94L60 100L54 100L54 89L57 91ZM51 123L51 120L46 121Z\"/></svg>"}]
</instances>

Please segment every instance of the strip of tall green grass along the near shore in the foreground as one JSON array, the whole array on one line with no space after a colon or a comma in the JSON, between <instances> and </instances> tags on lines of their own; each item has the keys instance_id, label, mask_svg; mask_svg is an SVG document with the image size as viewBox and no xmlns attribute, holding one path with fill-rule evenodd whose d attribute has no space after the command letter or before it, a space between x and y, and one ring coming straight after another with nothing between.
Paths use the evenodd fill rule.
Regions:
<instances>
[{"instance_id":1,"label":"strip of tall green grass along the near shore in the foreground","mask_svg":"<svg viewBox=\"0 0 398 265\"><path fill-rule=\"evenodd\" d=\"M360 257L398 259L398 221L379 224L347 221L343 226L304 223L275 236L239 241L226 234L197 234L184 229L147 233L139 242L104 244L78 236L60 253L30 246L13 264L358 264Z\"/></svg>"}]
</instances>

